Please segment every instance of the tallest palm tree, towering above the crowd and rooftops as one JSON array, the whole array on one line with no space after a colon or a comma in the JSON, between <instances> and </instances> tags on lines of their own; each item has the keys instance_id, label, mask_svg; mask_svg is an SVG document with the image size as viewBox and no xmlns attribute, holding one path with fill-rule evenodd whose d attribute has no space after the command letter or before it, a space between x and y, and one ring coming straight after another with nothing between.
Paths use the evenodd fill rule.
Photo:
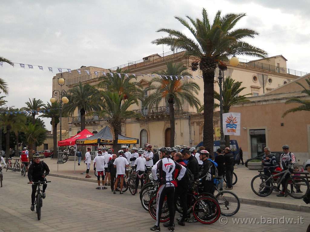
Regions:
<instances>
[{"instance_id":1,"label":"tallest palm tree, towering above the crowd and rooftops","mask_svg":"<svg viewBox=\"0 0 310 232\"><path fill-rule=\"evenodd\" d=\"M233 29L237 22L245 14L229 13L221 16L218 11L210 24L206 9L202 9L202 19L193 19L186 16L190 23L185 19L175 16L182 25L191 33L192 37L187 37L183 32L161 28L157 32L167 32L168 36L152 41L153 44L174 46L175 48L185 49L184 56L195 56L199 59L199 68L202 71L204 80L204 127L203 143L204 146L213 151L213 105L214 105L214 74L218 63L227 60L232 55L248 55L266 58L267 53L255 46L242 41L244 38L254 38L258 33L248 28ZM197 70L195 62L192 70ZM196 67L196 69L195 69Z\"/></svg>"}]
</instances>

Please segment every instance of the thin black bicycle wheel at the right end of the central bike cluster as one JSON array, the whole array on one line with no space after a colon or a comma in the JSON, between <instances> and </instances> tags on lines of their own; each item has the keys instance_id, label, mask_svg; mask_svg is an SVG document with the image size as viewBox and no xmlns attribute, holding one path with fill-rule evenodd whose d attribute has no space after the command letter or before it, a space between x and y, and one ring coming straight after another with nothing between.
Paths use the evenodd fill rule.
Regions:
<instances>
[{"instance_id":1,"label":"thin black bicycle wheel at the right end of the central bike cluster","mask_svg":"<svg viewBox=\"0 0 310 232\"><path fill-rule=\"evenodd\" d=\"M221 191L216 195L216 199L224 216L235 215L240 209L240 200L232 191Z\"/></svg>"}]
</instances>

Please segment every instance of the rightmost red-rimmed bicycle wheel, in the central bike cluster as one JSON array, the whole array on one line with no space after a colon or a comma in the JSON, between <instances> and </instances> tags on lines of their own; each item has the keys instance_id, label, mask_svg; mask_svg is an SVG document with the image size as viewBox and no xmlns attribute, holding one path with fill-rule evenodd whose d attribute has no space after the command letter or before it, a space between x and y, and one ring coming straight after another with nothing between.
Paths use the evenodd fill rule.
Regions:
<instances>
[{"instance_id":1,"label":"rightmost red-rimmed bicycle wheel, in the central bike cluster","mask_svg":"<svg viewBox=\"0 0 310 232\"><path fill-rule=\"evenodd\" d=\"M203 224L212 224L219 219L221 208L216 200L210 197L199 197L193 205L193 215Z\"/></svg>"}]
</instances>

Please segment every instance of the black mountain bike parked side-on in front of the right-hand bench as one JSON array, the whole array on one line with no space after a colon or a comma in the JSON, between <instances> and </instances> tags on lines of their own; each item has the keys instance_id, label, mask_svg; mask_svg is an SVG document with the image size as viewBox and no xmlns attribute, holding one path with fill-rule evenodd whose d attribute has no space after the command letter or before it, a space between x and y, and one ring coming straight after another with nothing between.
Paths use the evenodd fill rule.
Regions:
<instances>
[{"instance_id":1,"label":"black mountain bike parked side-on in front of the right-hand bench","mask_svg":"<svg viewBox=\"0 0 310 232\"><path fill-rule=\"evenodd\" d=\"M261 197L269 196L272 191L280 191L281 182L287 177L284 183L286 194L295 199L304 198L309 191L309 183L305 178L293 175L293 171L294 165L290 163L286 170L274 175L271 174L269 178L263 174L256 175L251 181L252 191ZM277 183L275 183L274 178L277 179Z\"/></svg>"}]
</instances>

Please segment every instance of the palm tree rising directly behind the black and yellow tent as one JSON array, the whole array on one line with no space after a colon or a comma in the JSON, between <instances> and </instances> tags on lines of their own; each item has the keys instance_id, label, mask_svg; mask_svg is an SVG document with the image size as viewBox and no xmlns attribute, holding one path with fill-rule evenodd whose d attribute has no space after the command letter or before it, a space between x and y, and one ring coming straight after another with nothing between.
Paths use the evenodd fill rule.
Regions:
<instances>
[{"instance_id":1,"label":"palm tree rising directly behind the black and yellow tent","mask_svg":"<svg viewBox=\"0 0 310 232\"><path fill-rule=\"evenodd\" d=\"M99 116L110 118L109 123L114 133L113 149L117 150L117 140L121 123L124 122L126 118L140 117L140 115L136 114L134 111L128 110L132 104L138 105L138 100L132 96L125 99L124 95L119 95L118 92L112 91L102 91L100 95L103 99L101 104L102 110L97 113Z\"/></svg>"}]
</instances>

